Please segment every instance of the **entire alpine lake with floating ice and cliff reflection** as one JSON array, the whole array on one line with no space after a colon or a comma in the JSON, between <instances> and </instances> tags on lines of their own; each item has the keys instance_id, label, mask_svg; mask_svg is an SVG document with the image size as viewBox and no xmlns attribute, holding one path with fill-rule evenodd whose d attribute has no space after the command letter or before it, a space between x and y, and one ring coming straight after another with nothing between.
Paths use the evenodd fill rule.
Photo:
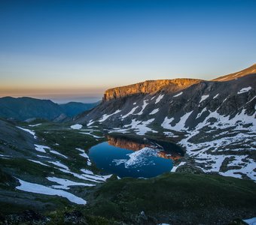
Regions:
<instances>
[{"instance_id":1,"label":"entire alpine lake with floating ice and cliff reflection","mask_svg":"<svg viewBox=\"0 0 256 225\"><path fill-rule=\"evenodd\" d=\"M127 136L106 137L107 142L90 148L90 160L99 169L120 178L151 178L170 172L173 160L184 156L181 147L172 142Z\"/></svg>"}]
</instances>

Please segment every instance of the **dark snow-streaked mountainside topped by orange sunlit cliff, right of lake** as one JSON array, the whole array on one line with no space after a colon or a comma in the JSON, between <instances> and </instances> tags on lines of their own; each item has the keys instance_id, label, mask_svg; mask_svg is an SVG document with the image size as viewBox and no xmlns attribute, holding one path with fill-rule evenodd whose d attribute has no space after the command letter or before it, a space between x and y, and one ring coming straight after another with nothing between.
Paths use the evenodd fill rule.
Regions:
<instances>
[{"instance_id":1,"label":"dark snow-streaked mountainside topped by orange sunlit cliff, right of lake","mask_svg":"<svg viewBox=\"0 0 256 225\"><path fill-rule=\"evenodd\" d=\"M184 161L204 172L256 180L256 65L212 81L179 80L178 88L176 80L152 92L142 86L106 91L102 104L75 123L163 136L183 146Z\"/></svg>"}]
</instances>

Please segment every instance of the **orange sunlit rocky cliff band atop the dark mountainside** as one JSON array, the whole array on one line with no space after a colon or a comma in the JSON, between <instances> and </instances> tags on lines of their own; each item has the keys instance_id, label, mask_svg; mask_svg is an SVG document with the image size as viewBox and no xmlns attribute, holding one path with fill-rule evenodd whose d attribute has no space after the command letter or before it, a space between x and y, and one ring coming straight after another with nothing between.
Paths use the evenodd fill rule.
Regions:
<instances>
[{"instance_id":1,"label":"orange sunlit rocky cliff band atop the dark mountainside","mask_svg":"<svg viewBox=\"0 0 256 225\"><path fill-rule=\"evenodd\" d=\"M136 83L130 86L117 87L105 91L103 101L111 99L124 98L131 95L151 94L165 89L168 92L178 92L186 89L201 80L196 79L174 79L174 80L147 80L142 83Z\"/></svg>"}]
</instances>

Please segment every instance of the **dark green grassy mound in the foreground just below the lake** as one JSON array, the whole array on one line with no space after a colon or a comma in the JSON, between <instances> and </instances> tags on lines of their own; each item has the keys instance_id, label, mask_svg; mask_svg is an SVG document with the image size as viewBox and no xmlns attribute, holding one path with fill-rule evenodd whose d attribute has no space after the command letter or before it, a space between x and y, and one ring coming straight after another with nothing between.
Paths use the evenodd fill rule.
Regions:
<instances>
[{"instance_id":1,"label":"dark green grassy mound in the foreground just below the lake","mask_svg":"<svg viewBox=\"0 0 256 225\"><path fill-rule=\"evenodd\" d=\"M93 214L118 220L141 211L154 217L223 210L236 217L245 216L245 211L254 216L255 187L253 181L221 175L170 173L151 179L123 178L102 184L91 196L89 208Z\"/></svg>"}]
</instances>

